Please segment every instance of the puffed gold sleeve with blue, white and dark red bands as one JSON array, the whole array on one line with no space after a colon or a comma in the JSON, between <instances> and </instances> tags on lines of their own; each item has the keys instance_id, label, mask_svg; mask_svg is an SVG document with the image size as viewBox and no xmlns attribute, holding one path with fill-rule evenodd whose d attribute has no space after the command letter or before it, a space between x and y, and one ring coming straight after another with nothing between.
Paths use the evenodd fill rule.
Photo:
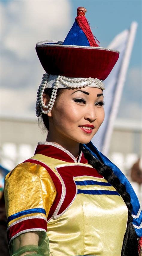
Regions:
<instances>
[{"instance_id":1,"label":"puffed gold sleeve with blue, white and dark red bands","mask_svg":"<svg viewBox=\"0 0 142 256\"><path fill-rule=\"evenodd\" d=\"M5 178L9 243L25 232L47 231L47 216L56 197L54 183L41 165L24 162Z\"/></svg>"}]
</instances>

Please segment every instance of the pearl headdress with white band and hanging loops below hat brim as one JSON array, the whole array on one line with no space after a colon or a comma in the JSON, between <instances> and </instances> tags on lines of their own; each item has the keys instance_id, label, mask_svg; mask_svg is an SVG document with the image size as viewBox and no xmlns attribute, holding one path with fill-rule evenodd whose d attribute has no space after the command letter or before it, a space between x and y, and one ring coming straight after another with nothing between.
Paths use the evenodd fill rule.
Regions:
<instances>
[{"instance_id":1,"label":"pearl headdress with white band and hanging loops below hat brim","mask_svg":"<svg viewBox=\"0 0 142 256\"><path fill-rule=\"evenodd\" d=\"M82 88L95 87L105 90L104 84L97 78L71 78L66 76L55 76L45 73L37 90L36 115L48 114L54 105L58 88ZM43 94L46 88L53 88L52 95L47 106L43 102ZM46 111L43 108L48 109Z\"/></svg>"}]
</instances>

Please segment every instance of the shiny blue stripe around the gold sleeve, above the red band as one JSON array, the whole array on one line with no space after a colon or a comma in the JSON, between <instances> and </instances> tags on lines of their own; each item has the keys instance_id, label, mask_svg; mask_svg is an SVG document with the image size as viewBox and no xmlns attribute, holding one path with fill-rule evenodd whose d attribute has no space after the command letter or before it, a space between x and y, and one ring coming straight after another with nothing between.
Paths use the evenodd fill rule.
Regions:
<instances>
[{"instance_id":1,"label":"shiny blue stripe around the gold sleeve, above the red band","mask_svg":"<svg viewBox=\"0 0 142 256\"><path fill-rule=\"evenodd\" d=\"M30 213L44 213L46 215L46 211L43 208L34 208L34 209L28 209L25 211L21 211L19 213L15 213L7 218L7 223L10 222L13 219L16 219L18 217L21 217L23 215L27 215Z\"/></svg>"}]
</instances>

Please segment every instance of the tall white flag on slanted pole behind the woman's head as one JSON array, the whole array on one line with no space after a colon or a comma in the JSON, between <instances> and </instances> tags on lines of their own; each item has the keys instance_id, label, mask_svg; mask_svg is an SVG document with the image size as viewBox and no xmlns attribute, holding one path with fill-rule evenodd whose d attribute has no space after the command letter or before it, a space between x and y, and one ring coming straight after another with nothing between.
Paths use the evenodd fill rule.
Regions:
<instances>
[{"instance_id":1,"label":"tall white flag on slanted pole behind the woman's head","mask_svg":"<svg viewBox=\"0 0 142 256\"><path fill-rule=\"evenodd\" d=\"M110 75L104 81L106 88L103 92L105 120L99 131L92 138L93 144L105 155L108 154L110 146L114 121L117 117L137 26L137 22L132 22L130 30L124 30L118 34L108 46L108 49L120 51L120 56Z\"/></svg>"}]
</instances>

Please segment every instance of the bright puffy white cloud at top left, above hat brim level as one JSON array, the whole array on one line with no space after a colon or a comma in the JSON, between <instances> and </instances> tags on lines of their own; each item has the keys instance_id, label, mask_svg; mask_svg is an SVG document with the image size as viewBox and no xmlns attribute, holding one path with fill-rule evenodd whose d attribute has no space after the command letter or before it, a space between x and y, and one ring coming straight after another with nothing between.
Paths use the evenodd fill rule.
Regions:
<instances>
[{"instance_id":1,"label":"bright puffy white cloud at top left, above hat brim level","mask_svg":"<svg viewBox=\"0 0 142 256\"><path fill-rule=\"evenodd\" d=\"M67 0L10 1L2 13L2 46L21 59L29 58L38 41L64 40L70 25Z\"/></svg>"}]
</instances>

